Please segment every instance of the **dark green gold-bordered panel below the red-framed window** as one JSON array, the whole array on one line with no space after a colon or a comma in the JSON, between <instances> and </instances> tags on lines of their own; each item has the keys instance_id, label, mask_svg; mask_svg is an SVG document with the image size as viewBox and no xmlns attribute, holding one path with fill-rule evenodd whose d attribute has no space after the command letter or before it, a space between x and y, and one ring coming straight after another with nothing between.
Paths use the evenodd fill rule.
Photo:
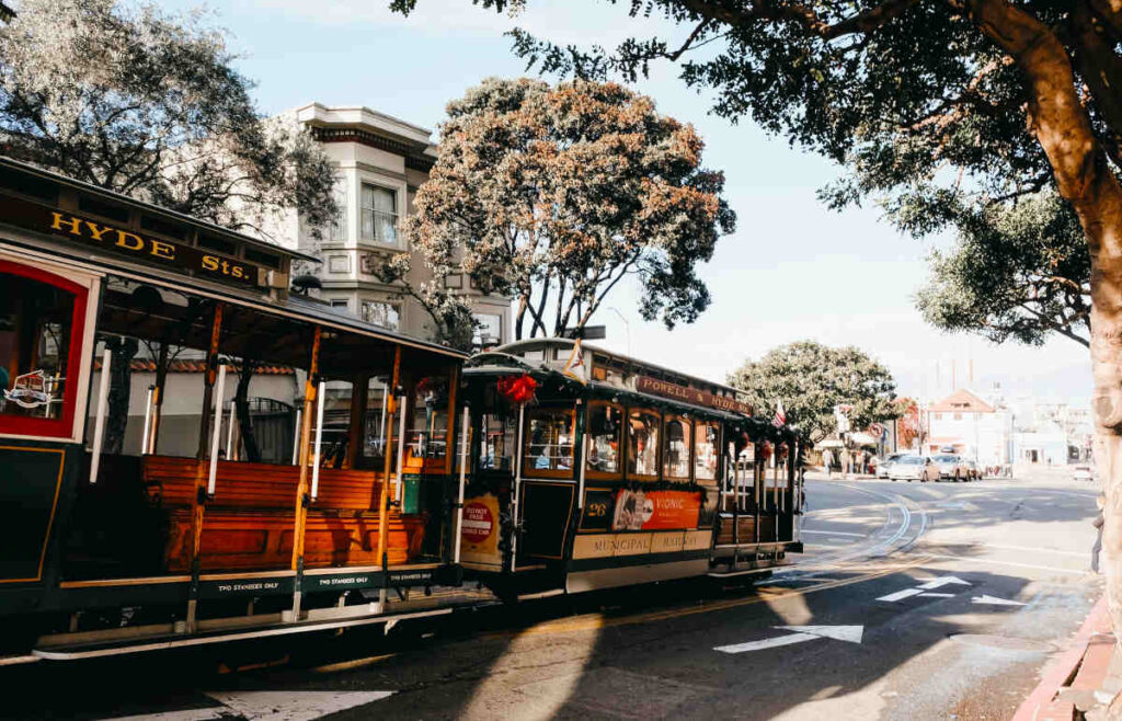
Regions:
<instances>
[{"instance_id":1,"label":"dark green gold-bordered panel below the red-framed window","mask_svg":"<svg viewBox=\"0 0 1122 721\"><path fill-rule=\"evenodd\" d=\"M58 488L63 449L0 445L0 581L37 581Z\"/></svg>"}]
</instances>

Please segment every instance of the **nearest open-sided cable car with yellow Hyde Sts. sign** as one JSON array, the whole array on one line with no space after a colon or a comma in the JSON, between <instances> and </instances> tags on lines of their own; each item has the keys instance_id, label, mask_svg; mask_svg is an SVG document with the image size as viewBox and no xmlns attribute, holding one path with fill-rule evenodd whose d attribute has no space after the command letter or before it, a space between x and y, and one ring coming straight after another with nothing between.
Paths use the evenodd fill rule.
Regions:
<instances>
[{"instance_id":1,"label":"nearest open-sided cable car with yellow Hyde Sts. sign","mask_svg":"<svg viewBox=\"0 0 1122 721\"><path fill-rule=\"evenodd\" d=\"M0 159L0 654L439 611L466 357L291 293L313 260Z\"/></svg>"}]
</instances>

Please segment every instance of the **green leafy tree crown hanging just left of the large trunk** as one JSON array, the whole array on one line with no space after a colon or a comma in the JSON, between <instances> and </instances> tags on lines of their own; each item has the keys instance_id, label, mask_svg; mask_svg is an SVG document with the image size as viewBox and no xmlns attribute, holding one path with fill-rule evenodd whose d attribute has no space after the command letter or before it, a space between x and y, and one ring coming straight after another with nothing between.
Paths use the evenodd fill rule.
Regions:
<instances>
[{"instance_id":1,"label":"green leafy tree crown hanging just left of the large trunk","mask_svg":"<svg viewBox=\"0 0 1122 721\"><path fill-rule=\"evenodd\" d=\"M929 323L995 343L1040 345L1059 334L1089 345L1091 257L1068 203L1034 195L958 225L954 249L931 253L917 298Z\"/></svg>"}]
</instances>

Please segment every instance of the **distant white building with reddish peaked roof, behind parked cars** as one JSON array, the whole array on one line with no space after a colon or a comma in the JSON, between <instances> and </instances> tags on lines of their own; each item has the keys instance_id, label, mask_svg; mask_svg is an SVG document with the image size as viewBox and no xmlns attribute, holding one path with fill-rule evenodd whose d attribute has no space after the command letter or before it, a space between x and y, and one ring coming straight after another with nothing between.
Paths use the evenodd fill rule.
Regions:
<instances>
[{"instance_id":1,"label":"distant white building with reddish peaked roof, behind parked cars","mask_svg":"<svg viewBox=\"0 0 1122 721\"><path fill-rule=\"evenodd\" d=\"M923 452L946 449L981 465L1012 462L1012 416L974 392L959 388L928 408Z\"/></svg>"}]
</instances>

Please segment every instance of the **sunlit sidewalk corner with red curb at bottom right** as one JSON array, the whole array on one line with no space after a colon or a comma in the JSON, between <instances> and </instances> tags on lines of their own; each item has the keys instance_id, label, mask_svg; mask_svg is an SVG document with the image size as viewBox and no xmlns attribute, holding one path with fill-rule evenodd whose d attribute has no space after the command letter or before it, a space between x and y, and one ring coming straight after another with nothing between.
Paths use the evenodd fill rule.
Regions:
<instances>
[{"instance_id":1,"label":"sunlit sidewalk corner with red curb at bottom right","mask_svg":"<svg viewBox=\"0 0 1122 721\"><path fill-rule=\"evenodd\" d=\"M1045 667L1040 684L1013 715L1013 721L1100 721L1120 718L1122 655L1116 651L1106 597L1098 599L1067 648Z\"/></svg>"}]
</instances>

